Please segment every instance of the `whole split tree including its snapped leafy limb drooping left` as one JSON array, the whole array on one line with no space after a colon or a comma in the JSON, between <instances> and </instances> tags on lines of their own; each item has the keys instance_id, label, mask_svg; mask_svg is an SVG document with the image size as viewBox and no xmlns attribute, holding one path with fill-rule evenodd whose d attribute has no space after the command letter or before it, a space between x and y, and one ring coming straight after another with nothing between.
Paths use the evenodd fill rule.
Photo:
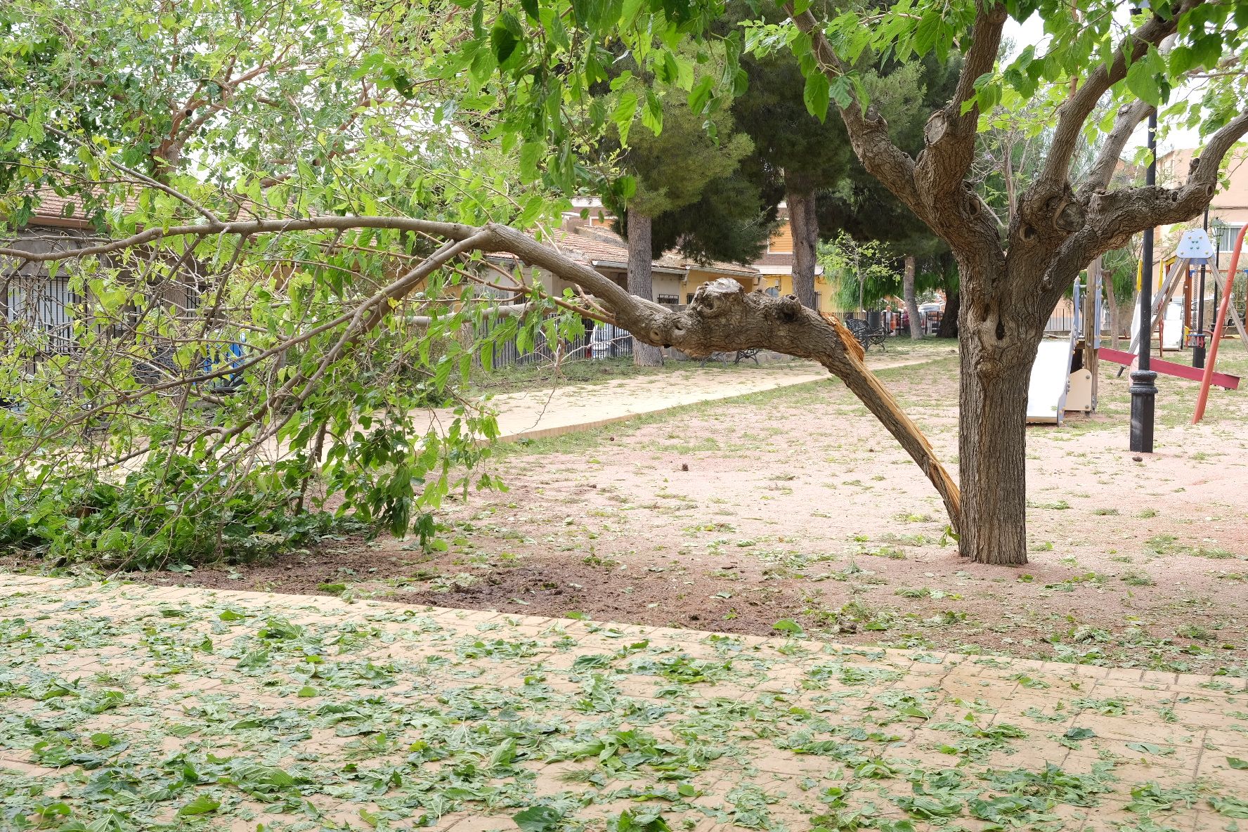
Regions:
<instances>
[{"instance_id":1,"label":"whole split tree including its snapped leafy limb drooping left","mask_svg":"<svg viewBox=\"0 0 1248 832\"><path fill-rule=\"evenodd\" d=\"M60 395L45 394L35 414L42 428L30 430L29 413L20 424L6 420L5 474L29 478L34 472L41 486L55 485L81 459L84 444L94 442L89 427L99 429L109 422L125 422L146 443L131 443L129 450L115 448L105 460L114 467L135 455L146 455L145 465L155 459L160 467L172 459L173 450L181 454L180 465L212 469L228 459L236 467L255 467L257 449L267 443L281 449L282 442L295 440L301 449L300 470L317 467L323 458L347 459L351 464L339 465L331 479L348 505L377 505L402 528L403 511L411 508L403 501L404 489L407 494L414 488L444 494L447 472L459 464L457 454L468 444L458 425L452 430L456 442L449 444L442 444L436 430L413 439L411 424L401 415L412 402L402 382L393 372L387 374L389 400L371 399L368 379L354 372L357 364L368 365L359 356L369 344L381 344L382 333L412 338L416 347L408 354L417 367L434 383L444 380L452 369L472 360L470 353L453 351L448 365L433 360L434 344L451 342L462 316L484 314L482 307L488 303L472 287L514 291L527 286L523 272L508 273L499 266L520 262L548 269L580 291L577 297L543 298L533 289L532 303L522 312L570 307L577 314L618 323L646 343L675 346L691 356L763 347L821 363L844 379L921 465L961 533L963 555L1022 563L1023 408L1027 374L1048 312L1098 253L1147 225L1194 216L1213 195L1222 158L1248 131L1243 80L1233 70L1219 72L1204 80L1203 96L1186 100L1206 119L1211 133L1189 180L1177 188L1107 190L1131 128L1148 107L1161 102L1188 71L1221 66L1242 47L1239 29L1228 27L1232 9L1227 5L1157 6L1127 22L1114 17L1116 7L1081 2L1072 15L1068 4L1057 2L920 0L887 9L846 9L835 16L829 9L816 17L801 4L787 7L786 22L760 24L728 36L710 34L723 10L711 0L522 0L492 4L488 10L467 1L352 7L344 19L363 25L353 25L351 37L367 46L344 50L348 57L342 60L352 64L351 75L402 76L404 100L417 106L388 125L382 119L367 126L353 122L362 140L357 152L319 153L317 166L272 160L271 171L231 165L230 147L213 145L215 133L206 122L206 130L188 137L178 156L195 160L198 172L188 171L173 182L127 166L125 136L101 140L91 122L79 117L77 87L45 86L34 97L9 87L7 112L16 115L0 145L10 170L22 171L26 183L57 178L61 188L104 188L115 197L110 202L115 222L107 228L110 239L44 252L6 246L0 257L27 266L67 261L80 264L85 274L105 269L107 281L96 288L82 278L92 288L85 296L84 313L105 316L139 307L144 317L144 309L158 306L144 293L146 283L134 279L134 261L142 261L141 268L155 269L161 279L172 279L178 268L205 259L217 274L252 268L261 278L245 282L255 289L241 296L231 296L232 279L210 281L221 302L200 307L188 324L201 332L202 341L218 316L236 316L236 328L250 333L242 360L205 365L195 359L198 342L182 336L177 343L190 358L162 365L155 380L140 378L129 367L112 367L106 377L110 384L89 385L90 402L75 398L77 387L72 393L66 385ZM997 46L1006 20L1032 12L1040 12L1050 27L1048 52L1025 52L1000 66ZM417 22L427 36L406 36L406 27ZM177 19L147 36L170 37L175 31ZM378 32L384 36L376 37ZM1171 35L1178 42L1163 59L1157 46ZM701 46L709 36L719 39L715 49ZM623 45L661 86L648 87L629 106L610 111L587 106L590 87L609 81L605 62L615 52L604 49L605 42ZM804 308L796 298L748 294L724 281L704 286L689 308L673 312L629 294L543 242L548 237L542 221L565 205L555 193L570 193L585 182L609 186L615 177L614 171L580 165L580 147L609 122L619 126L639 119L651 131L661 130L659 89L686 94L695 111L710 114L726 106L745 82L736 61L745 47L759 52L792 49L802 64L811 109L836 102L864 166L940 235L957 258L963 292L960 468L965 498L915 425L865 370L856 344L837 322ZM912 157L896 147L887 125L871 109L855 65L871 51L905 60L951 49L963 57L953 100L932 114L925 148ZM721 72L693 71L691 64L710 61L713 55L726 55ZM1076 91L1070 94L1072 84ZM1018 195L1015 221L1001 233L967 186L966 175L975 156L980 110L1007 95L1048 96L1055 133L1045 163ZM55 106L44 106L41 97L55 100ZM1094 128L1088 120L1104 100L1121 105L1117 122L1108 126L1109 136L1091 173L1072 182L1073 148L1083 130ZM314 104L296 99L298 109ZM228 122L228 106L226 101L213 117ZM247 123L228 122L228 127ZM42 146L47 135L67 143L47 150ZM72 153L65 152L69 146ZM52 168L55 176L47 172ZM6 187L11 196L12 186ZM140 211L122 207L127 192L139 195ZM498 254L507 258L499 261ZM129 296L116 294L122 286ZM267 293L265 303L281 311L276 322L246 318L257 311L255 297L261 291ZM125 303L110 311L110 298L114 304ZM427 327L424 334L397 329L409 321ZM84 323L82 329L89 328ZM149 334L167 337L162 332ZM107 346L95 349L89 356L92 360L79 362L75 372L96 367L95 359L100 365L109 363ZM40 367L40 373L55 374L57 364ZM253 393L242 405L205 388L240 373L262 382L248 387ZM312 403L319 397L332 399L336 373L343 373L342 389L352 392L351 404L334 410L334 435L322 444L316 438L323 414ZM17 378L9 372L10 389L21 384L29 389L31 383ZM82 378L79 373L75 385ZM36 375L32 384L50 389L50 380L51 375ZM177 392L172 404L144 409L160 404L160 397L171 390ZM191 408L191 399L208 407ZM384 415L378 419L378 413ZM190 433L187 423L193 424ZM372 453L371 430L379 430L384 439L379 455ZM45 442L54 434L56 443ZM10 448L21 452L11 454ZM49 455L52 448L59 455ZM412 463L418 463L416 480ZM404 474L356 483L352 478L369 465L387 472L401 468ZM166 462L163 468L167 475L175 465ZM185 521L182 515L171 520Z\"/></svg>"}]
</instances>

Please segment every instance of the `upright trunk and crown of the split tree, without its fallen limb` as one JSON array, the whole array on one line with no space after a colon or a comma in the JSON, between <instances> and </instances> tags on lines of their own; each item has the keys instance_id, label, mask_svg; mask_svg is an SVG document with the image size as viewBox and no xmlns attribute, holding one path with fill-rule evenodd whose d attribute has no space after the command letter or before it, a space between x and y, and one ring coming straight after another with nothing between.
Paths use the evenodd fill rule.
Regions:
<instances>
[{"instance_id":1,"label":"upright trunk and crown of the split tree, without its fallen limb","mask_svg":"<svg viewBox=\"0 0 1248 832\"><path fill-rule=\"evenodd\" d=\"M1132 131L1166 104L1188 74L1208 75L1242 55L1243 4L1154 2L1127 17L1111 2L897 4L886 11L816 17L789 4L792 26L759 27L756 47L794 49L805 60L816 104L835 101L866 168L951 247L961 277L958 312L960 550L981 563L1026 563L1025 410L1027 382L1045 322L1062 293L1098 254L1156 225L1182 222L1209 203L1219 166L1248 132L1248 87L1231 71L1203 79L1172 106L1199 123L1207 141L1177 187L1108 188ZM1000 64L1006 22L1040 15L1048 45ZM1168 50L1162 50L1163 42ZM901 55L956 49L963 54L953 99L932 112L925 147L897 148L889 127L854 84L866 50ZM1052 140L1021 190L1003 231L967 181L976 161L980 114L1008 97L1048 102ZM1114 105L1109 120L1092 121ZM1085 131L1106 130L1101 152L1081 177L1072 160Z\"/></svg>"}]
</instances>

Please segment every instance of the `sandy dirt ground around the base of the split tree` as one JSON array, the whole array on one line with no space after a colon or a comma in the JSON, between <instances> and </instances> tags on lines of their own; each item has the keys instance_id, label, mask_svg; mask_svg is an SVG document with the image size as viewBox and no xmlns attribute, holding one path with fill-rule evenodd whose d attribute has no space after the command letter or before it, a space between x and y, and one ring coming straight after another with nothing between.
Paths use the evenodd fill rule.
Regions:
<instances>
[{"instance_id":1,"label":"sandy dirt ground around the base of the split tree","mask_svg":"<svg viewBox=\"0 0 1248 832\"><path fill-rule=\"evenodd\" d=\"M956 356L927 349L881 377L956 472ZM1114 369L1094 415L1028 428L1022 568L958 558L929 483L827 379L508 447L509 490L449 505L444 551L343 540L146 580L1246 675L1248 390L1191 427L1196 384L1163 377L1136 459Z\"/></svg>"}]
</instances>

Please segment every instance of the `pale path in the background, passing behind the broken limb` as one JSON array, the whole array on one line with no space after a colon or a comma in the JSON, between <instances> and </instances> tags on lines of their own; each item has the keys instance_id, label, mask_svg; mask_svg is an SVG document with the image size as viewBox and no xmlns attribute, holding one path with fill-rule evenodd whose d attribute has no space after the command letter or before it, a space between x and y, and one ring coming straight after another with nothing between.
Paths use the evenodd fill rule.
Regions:
<instances>
[{"instance_id":1,"label":"pale path in the background, passing behind the broken limb","mask_svg":"<svg viewBox=\"0 0 1248 832\"><path fill-rule=\"evenodd\" d=\"M894 359L870 364L871 369L922 364L942 356ZM679 369L602 384L572 384L553 390L505 393L490 399L498 410L500 439L538 439L573 430L598 428L648 413L661 413L699 402L729 399L780 387L830 379L827 370L811 362L791 362L739 370ZM449 424L451 410L437 410L436 419Z\"/></svg>"}]
</instances>

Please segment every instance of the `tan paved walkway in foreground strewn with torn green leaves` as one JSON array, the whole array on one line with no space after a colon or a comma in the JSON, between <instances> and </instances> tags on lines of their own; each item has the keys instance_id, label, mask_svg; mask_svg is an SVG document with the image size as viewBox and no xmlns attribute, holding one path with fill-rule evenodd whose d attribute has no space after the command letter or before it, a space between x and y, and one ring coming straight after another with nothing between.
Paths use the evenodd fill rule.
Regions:
<instances>
[{"instance_id":1,"label":"tan paved walkway in foreground strewn with torn green leaves","mask_svg":"<svg viewBox=\"0 0 1248 832\"><path fill-rule=\"evenodd\" d=\"M1213 831L1246 761L1243 679L0 574L4 830Z\"/></svg>"}]
</instances>

